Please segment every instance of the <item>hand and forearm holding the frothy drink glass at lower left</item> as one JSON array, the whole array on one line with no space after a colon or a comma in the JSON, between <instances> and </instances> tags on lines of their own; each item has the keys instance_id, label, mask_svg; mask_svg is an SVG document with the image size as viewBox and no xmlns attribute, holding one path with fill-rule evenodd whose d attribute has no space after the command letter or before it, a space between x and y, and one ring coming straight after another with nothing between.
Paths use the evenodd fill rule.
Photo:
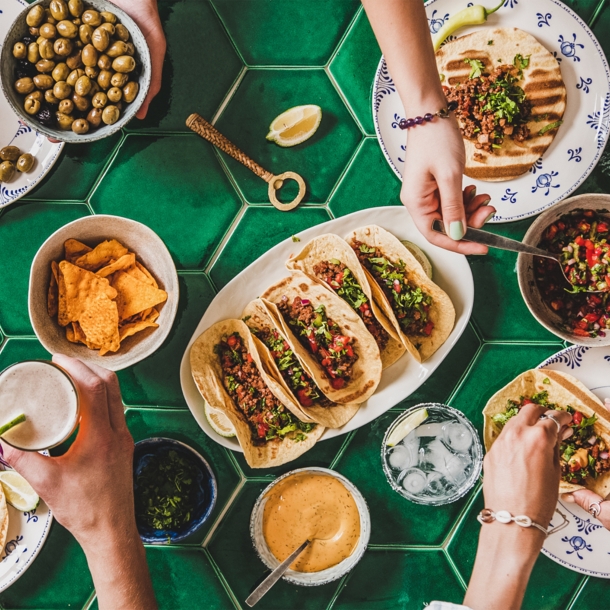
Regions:
<instances>
[{"instance_id":1,"label":"hand and forearm holding the frothy drink glass at lower left","mask_svg":"<svg viewBox=\"0 0 610 610\"><path fill-rule=\"evenodd\" d=\"M2 445L4 457L80 543L100 610L154 610L144 546L135 523L133 440L114 373L57 355L74 380L80 429L70 449L50 458Z\"/></svg>"}]
</instances>

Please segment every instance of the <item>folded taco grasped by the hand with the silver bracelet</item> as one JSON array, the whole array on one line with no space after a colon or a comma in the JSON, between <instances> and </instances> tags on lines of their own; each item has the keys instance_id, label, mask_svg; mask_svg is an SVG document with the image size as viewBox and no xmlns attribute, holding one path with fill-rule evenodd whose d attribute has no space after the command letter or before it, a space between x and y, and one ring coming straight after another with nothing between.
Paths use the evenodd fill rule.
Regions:
<instances>
[{"instance_id":1,"label":"folded taco grasped by the hand with the silver bracelet","mask_svg":"<svg viewBox=\"0 0 610 610\"><path fill-rule=\"evenodd\" d=\"M560 493L590 489L603 498L610 492L610 424L600 400L580 381L548 369L526 371L496 392L483 410L485 448L526 404L572 413L573 435L559 446Z\"/></svg>"}]
</instances>

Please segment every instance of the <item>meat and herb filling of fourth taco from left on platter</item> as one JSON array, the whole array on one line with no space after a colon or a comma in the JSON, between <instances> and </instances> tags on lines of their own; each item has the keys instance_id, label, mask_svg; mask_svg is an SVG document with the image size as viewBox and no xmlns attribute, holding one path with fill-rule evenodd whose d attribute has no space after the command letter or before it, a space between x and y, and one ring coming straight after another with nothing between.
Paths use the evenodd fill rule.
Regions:
<instances>
[{"instance_id":1,"label":"meat and herb filling of fourth taco from left on platter","mask_svg":"<svg viewBox=\"0 0 610 610\"><path fill-rule=\"evenodd\" d=\"M390 335L375 317L371 303L353 273L340 261L322 261L315 265L313 270L317 277L326 282L362 318L382 351L388 344Z\"/></svg>"}]
</instances>

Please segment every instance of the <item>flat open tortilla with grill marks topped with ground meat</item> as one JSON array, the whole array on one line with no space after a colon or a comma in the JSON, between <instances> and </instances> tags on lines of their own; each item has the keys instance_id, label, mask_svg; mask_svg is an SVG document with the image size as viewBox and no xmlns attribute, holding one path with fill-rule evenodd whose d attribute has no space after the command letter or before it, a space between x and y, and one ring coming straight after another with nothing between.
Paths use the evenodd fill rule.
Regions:
<instances>
[{"instance_id":1,"label":"flat open tortilla with grill marks topped with ground meat","mask_svg":"<svg viewBox=\"0 0 610 610\"><path fill-rule=\"evenodd\" d=\"M436 64L464 137L464 173L497 182L529 171L566 109L551 52L518 28L486 28L446 43Z\"/></svg>"}]
</instances>

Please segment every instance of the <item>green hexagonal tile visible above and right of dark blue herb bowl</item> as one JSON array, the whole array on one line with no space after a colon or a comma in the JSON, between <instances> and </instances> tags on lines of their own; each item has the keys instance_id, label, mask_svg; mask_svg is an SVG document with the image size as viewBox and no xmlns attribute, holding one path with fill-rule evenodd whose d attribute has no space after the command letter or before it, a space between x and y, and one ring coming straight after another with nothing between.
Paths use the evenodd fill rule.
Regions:
<instances>
[{"instance_id":1,"label":"green hexagonal tile visible above and right of dark blue herb bowl","mask_svg":"<svg viewBox=\"0 0 610 610\"><path fill-rule=\"evenodd\" d=\"M125 417L136 443L156 436L173 438L198 451L210 464L218 483L216 507L201 530L186 542L200 544L241 479L227 452L203 432L188 410L128 409Z\"/></svg>"}]
</instances>

